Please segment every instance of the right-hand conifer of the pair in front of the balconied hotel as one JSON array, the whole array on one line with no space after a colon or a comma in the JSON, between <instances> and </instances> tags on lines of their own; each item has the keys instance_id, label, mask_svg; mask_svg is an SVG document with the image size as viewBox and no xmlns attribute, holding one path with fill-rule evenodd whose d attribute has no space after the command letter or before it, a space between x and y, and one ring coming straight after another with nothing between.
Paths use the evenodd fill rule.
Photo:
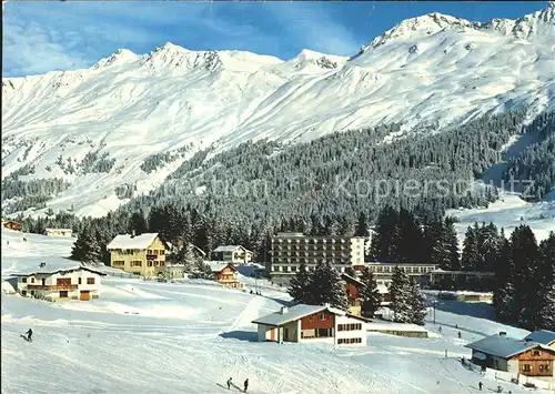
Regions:
<instances>
[{"instance_id":1,"label":"right-hand conifer of the pair in front of the balconied hotel","mask_svg":"<svg viewBox=\"0 0 555 394\"><path fill-rule=\"evenodd\" d=\"M316 305L329 303L343 311L349 307L346 284L330 262L316 265L314 274L311 275L311 287Z\"/></svg>"}]
</instances>

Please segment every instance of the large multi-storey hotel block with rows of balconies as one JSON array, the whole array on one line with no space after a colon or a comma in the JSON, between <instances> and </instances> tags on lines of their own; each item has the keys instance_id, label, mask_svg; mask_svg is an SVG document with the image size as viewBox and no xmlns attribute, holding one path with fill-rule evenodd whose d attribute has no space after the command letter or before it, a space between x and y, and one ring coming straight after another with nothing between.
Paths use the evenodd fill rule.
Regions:
<instances>
[{"instance_id":1,"label":"large multi-storey hotel block with rows of balconies","mask_svg":"<svg viewBox=\"0 0 555 394\"><path fill-rule=\"evenodd\" d=\"M303 233L278 233L272 238L272 282L286 285L305 264L313 271L319 263L330 262L339 272L364 264L363 236L313 236Z\"/></svg>"}]
</instances>

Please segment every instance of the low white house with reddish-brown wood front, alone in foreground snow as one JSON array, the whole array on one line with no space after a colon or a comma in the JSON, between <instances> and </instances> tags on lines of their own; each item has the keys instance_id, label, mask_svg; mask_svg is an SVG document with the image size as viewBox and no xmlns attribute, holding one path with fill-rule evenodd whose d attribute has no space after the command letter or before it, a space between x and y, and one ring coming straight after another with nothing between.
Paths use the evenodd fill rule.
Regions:
<instances>
[{"instance_id":1,"label":"low white house with reddish-brown wood front, alone in foreground snow","mask_svg":"<svg viewBox=\"0 0 555 394\"><path fill-rule=\"evenodd\" d=\"M324 342L366 345L366 320L329 305L299 304L253 321L260 342Z\"/></svg>"}]
</instances>

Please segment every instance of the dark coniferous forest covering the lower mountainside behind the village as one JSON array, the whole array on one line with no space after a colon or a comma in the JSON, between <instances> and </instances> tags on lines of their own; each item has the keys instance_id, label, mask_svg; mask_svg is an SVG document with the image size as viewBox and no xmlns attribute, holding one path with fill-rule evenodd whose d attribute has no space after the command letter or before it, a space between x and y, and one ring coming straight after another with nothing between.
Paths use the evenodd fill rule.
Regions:
<instances>
[{"instance_id":1,"label":"dark coniferous forest covering the lower mountainside behind the village","mask_svg":"<svg viewBox=\"0 0 555 394\"><path fill-rule=\"evenodd\" d=\"M73 257L104 263L109 261L107 244L132 230L160 232L172 244L193 243L205 252L220 244L242 244L255 251L259 261L269 261L271 236L279 231L367 235L372 229L369 259L493 271L500 319L527 327L539 322L548 325L553 321L547 316L553 311L554 235L538 245L525 225L504 234L492 223L476 223L467 229L460 249L454 219L445 218L446 209L485 206L497 198L494 188L468 186L498 163L502 147L522 133L533 134L537 142L509 159L503 176L537 179L526 190L533 199L549 191L555 173L555 117L543 114L528 125L525 118L525 111L490 115L441 133L416 130L410 138L386 142L401 125L335 133L292 145L262 140L221 153L208 149L185 161L161 188L104 218L48 212L38 219L18 219L23 231L37 233L47 226L72 228L78 234ZM430 180L453 188L446 193L434 183L422 188ZM24 182L3 181L2 200L17 201ZM410 182L416 183L418 193L404 193L403 185ZM54 186L47 194L65 188ZM48 201L48 195L40 198L41 204ZM320 274L331 281L325 271ZM401 287L412 289L410 284Z\"/></svg>"}]
</instances>

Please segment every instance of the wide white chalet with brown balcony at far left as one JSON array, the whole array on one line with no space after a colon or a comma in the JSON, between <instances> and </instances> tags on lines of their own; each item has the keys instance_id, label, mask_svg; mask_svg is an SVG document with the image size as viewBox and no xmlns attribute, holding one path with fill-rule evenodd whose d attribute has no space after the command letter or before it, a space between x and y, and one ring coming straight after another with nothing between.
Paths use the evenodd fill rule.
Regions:
<instances>
[{"instance_id":1,"label":"wide white chalet with brown balcony at far left","mask_svg":"<svg viewBox=\"0 0 555 394\"><path fill-rule=\"evenodd\" d=\"M48 301L90 301L100 296L103 273L81 265L43 263L37 270L16 274L22 296Z\"/></svg>"}]
</instances>

